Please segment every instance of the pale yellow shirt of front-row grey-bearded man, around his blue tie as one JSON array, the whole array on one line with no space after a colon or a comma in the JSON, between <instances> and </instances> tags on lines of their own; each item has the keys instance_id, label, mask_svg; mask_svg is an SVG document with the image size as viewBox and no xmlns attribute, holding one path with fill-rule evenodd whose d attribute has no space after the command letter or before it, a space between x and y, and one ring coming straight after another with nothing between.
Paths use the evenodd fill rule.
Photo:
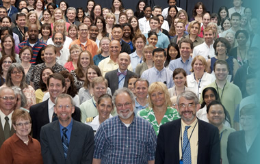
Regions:
<instances>
[{"instance_id":1,"label":"pale yellow shirt of front-row grey-bearded man, around his blue tie","mask_svg":"<svg viewBox=\"0 0 260 164\"><path fill-rule=\"evenodd\" d=\"M196 115L194 116L196 117ZM183 137L183 133L185 131L185 126L191 126L190 128L187 129L187 137L190 139L190 152L192 156L192 164L196 164L198 160L198 119L194 120L192 124L188 125L181 120L181 135L179 139L179 155L180 159L182 156L182 150L181 150L181 136ZM196 126L195 126L196 125ZM194 129L194 131L193 131ZM192 133L193 131L193 133ZM190 135L192 134L192 137ZM183 145L183 144L182 144ZM183 146L183 150L185 149L185 146Z\"/></svg>"}]
</instances>

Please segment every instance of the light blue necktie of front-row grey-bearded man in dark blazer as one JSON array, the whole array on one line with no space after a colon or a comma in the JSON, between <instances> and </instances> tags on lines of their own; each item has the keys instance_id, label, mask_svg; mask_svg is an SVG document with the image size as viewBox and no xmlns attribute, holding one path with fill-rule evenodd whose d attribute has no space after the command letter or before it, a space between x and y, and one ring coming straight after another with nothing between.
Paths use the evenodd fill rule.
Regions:
<instances>
[{"instance_id":1,"label":"light blue necktie of front-row grey-bearded man in dark blazer","mask_svg":"<svg viewBox=\"0 0 260 164\"><path fill-rule=\"evenodd\" d=\"M190 126L185 126L185 131L183 133L183 164L191 164L192 163L192 157L190 154L190 141L187 137L187 129L190 128Z\"/></svg>"}]
</instances>

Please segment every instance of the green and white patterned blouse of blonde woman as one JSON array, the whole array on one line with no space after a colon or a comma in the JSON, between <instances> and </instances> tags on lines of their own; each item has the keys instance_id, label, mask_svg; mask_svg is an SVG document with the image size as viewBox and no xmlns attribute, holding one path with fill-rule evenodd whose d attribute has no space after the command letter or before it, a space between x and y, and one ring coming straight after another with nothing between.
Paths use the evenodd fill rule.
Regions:
<instances>
[{"instance_id":1,"label":"green and white patterned blouse of blonde woman","mask_svg":"<svg viewBox=\"0 0 260 164\"><path fill-rule=\"evenodd\" d=\"M158 124L155 117L155 113L153 112L152 108L142 109L141 111L138 112L137 115L140 116L141 118L144 118L144 120L147 120L152 124L153 128L155 129L156 135L159 134L159 127L162 124L166 124L167 122L171 122L173 120L177 120L181 118L179 116L177 109L174 109L172 107L167 107L167 111L164 114L164 118L161 120L160 124Z\"/></svg>"}]
</instances>

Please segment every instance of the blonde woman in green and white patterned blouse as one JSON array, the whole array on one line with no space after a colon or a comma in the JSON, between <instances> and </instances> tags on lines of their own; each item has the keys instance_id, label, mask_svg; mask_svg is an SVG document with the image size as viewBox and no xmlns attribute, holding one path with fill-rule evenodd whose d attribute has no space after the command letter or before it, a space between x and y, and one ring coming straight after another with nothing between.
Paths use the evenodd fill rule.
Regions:
<instances>
[{"instance_id":1,"label":"blonde woman in green and white patterned blouse","mask_svg":"<svg viewBox=\"0 0 260 164\"><path fill-rule=\"evenodd\" d=\"M152 124L156 135L162 124L180 118L177 109L171 107L170 94L164 83L155 82L148 87L148 103L149 107L142 109L137 115Z\"/></svg>"}]
</instances>

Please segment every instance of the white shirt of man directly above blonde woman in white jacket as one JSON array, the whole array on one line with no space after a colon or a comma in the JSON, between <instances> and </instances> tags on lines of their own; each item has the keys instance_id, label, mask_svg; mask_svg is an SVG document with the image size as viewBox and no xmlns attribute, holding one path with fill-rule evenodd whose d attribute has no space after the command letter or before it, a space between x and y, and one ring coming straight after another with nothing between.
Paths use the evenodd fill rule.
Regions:
<instances>
[{"instance_id":1,"label":"white shirt of man directly above blonde woman in white jacket","mask_svg":"<svg viewBox=\"0 0 260 164\"><path fill-rule=\"evenodd\" d=\"M213 42L214 44L214 42ZM203 56L206 61L208 59L210 59L211 57L215 56L215 50L213 48L213 44L211 44L210 46L208 46L205 42L203 42L203 44L200 44L198 46L195 46L193 49L193 55L192 57L196 57L198 55Z\"/></svg>"}]
</instances>

